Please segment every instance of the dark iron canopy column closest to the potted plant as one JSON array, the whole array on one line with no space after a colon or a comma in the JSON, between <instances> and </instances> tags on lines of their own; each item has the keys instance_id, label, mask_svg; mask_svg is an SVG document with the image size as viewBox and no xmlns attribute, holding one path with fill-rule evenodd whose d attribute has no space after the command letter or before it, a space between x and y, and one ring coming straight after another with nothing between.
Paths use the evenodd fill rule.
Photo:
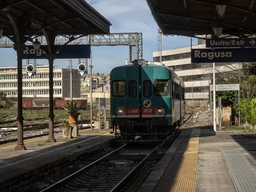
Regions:
<instances>
[{"instance_id":1,"label":"dark iron canopy column closest to the potted plant","mask_svg":"<svg viewBox=\"0 0 256 192\"><path fill-rule=\"evenodd\" d=\"M54 114L53 114L53 61L55 59L55 54L47 54L46 58L49 61L49 141L56 142L54 138Z\"/></svg>"}]
</instances>

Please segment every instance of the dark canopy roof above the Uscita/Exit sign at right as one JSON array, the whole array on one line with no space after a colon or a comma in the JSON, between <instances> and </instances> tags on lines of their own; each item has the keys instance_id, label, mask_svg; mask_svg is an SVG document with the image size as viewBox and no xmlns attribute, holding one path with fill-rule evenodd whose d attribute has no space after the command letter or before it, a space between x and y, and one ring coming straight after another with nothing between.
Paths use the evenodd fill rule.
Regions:
<instances>
[{"instance_id":1,"label":"dark canopy roof above the Uscita/Exit sign at right","mask_svg":"<svg viewBox=\"0 0 256 192\"><path fill-rule=\"evenodd\" d=\"M165 35L216 35L246 37L256 33L254 0L147 0L151 13Z\"/></svg>"}]
</instances>

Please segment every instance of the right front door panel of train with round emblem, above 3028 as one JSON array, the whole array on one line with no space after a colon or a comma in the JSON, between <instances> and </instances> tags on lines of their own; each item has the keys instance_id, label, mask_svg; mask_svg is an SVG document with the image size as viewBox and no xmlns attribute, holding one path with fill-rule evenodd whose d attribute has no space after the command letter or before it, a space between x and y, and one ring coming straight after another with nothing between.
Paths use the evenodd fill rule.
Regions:
<instances>
[{"instance_id":1,"label":"right front door panel of train with round emblem, above 3028","mask_svg":"<svg viewBox=\"0 0 256 192\"><path fill-rule=\"evenodd\" d=\"M153 67L143 67L141 69L141 117L154 117L154 96L153 90Z\"/></svg>"}]
</instances>

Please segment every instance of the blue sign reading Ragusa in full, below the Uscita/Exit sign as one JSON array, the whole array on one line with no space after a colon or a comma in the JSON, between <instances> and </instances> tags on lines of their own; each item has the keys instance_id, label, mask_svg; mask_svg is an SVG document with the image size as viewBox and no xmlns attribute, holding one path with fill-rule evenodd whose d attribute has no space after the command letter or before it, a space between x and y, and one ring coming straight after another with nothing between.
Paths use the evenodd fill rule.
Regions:
<instances>
[{"instance_id":1,"label":"blue sign reading Ragusa in full, below the Uscita/Exit sign","mask_svg":"<svg viewBox=\"0 0 256 192\"><path fill-rule=\"evenodd\" d=\"M191 63L256 62L256 48L191 49Z\"/></svg>"}]
</instances>

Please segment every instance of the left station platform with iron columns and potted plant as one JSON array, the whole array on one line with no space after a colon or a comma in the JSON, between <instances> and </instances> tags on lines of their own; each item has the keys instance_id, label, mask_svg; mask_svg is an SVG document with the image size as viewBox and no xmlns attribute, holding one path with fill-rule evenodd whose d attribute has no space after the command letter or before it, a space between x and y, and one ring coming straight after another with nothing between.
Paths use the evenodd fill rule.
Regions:
<instances>
[{"instance_id":1,"label":"left station platform with iron columns and potted plant","mask_svg":"<svg viewBox=\"0 0 256 192\"><path fill-rule=\"evenodd\" d=\"M63 139L59 133L55 134L56 143L46 143L47 136L25 140L25 151L15 151L16 143L0 145L0 192L15 191L35 177L76 160L81 154L104 147L115 138L111 131L113 129L79 130L80 136L72 139Z\"/></svg>"}]
</instances>

